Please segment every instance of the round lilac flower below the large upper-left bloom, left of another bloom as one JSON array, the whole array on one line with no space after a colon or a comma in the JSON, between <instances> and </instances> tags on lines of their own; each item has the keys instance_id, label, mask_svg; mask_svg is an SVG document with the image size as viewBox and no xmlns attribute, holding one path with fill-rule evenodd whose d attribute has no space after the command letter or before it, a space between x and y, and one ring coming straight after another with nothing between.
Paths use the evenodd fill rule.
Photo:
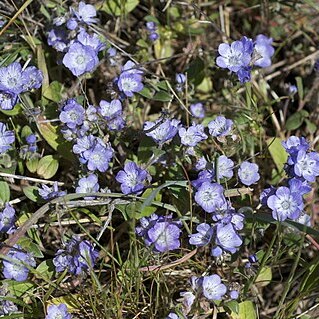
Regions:
<instances>
[{"instance_id":1,"label":"round lilac flower below the large upper-left bloom, left of another bloom","mask_svg":"<svg viewBox=\"0 0 319 319\"><path fill-rule=\"evenodd\" d=\"M82 125L85 117L85 110L82 105L78 104L75 99L68 99L60 113L59 119L65 123L68 128L75 129Z\"/></svg>"}]
</instances>

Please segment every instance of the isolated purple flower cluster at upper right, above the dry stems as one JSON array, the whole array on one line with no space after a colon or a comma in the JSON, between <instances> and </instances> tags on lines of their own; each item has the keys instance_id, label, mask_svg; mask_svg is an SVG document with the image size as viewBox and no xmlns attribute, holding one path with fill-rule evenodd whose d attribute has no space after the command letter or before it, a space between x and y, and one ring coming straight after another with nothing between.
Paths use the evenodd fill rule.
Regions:
<instances>
[{"instance_id":1,"label":"isolated purple flower cluster at upper right, above the dry stems","mask_svg":"<svg viewBox=\"0 0 319 319\"><path fill-rule=\"evenodd\" d=\"M275 53L272 41L272 38L259 34L254 41L242 37L230 45L221 43L218 47L220 56L217 57L216 64L236 73L240 82L248 82L253 65L262 68L271 65L271 57Z\"/></svg>"}]
</instances>

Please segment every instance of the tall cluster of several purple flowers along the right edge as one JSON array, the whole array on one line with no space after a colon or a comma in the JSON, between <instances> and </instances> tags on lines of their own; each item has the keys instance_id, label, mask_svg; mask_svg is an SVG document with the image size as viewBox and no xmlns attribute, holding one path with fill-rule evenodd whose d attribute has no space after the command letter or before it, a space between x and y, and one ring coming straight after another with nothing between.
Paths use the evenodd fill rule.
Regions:
<instances>
[{"instance_id":1,"label":"tall cluster of several purple flowers along the right edge","mask_svg":"<svg viewBox=\"0 0 319 319\"><path fill-rule=\"evenodd\" d=\"M289 179L286 186L265 189L260 201L272 210L274 219L298 220L303 215L303 195L311 191L309 183L319 176L319 154L309 152L310 145L303 137L291 136L282 145L289 154L286 164Z\"/></svg>"}]
</instances>

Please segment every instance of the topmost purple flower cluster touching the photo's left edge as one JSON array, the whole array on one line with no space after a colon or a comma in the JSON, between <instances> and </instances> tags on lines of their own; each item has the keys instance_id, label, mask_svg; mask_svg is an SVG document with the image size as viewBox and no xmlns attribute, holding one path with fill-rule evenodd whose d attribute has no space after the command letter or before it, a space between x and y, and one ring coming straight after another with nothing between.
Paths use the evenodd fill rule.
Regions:
<instances>
[{"instance_id":1,"label":"topmost purple flower cluster touching the photo's left edge","mask_svg":"<svg viewBox=\"0 0 319 319\"><path fill-rule=\"evenodd\" d=\"M38 89L43 81L42 72L34 66L22 69L19 62L0 68L0 108L12 110L21 93Z\"/></svg>"}]
</instances>

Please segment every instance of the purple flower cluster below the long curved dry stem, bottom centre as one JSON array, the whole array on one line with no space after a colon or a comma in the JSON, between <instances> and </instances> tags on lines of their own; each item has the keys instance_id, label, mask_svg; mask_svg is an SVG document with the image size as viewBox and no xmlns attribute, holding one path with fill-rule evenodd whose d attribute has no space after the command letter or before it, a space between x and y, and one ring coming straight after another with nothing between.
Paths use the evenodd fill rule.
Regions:
<instances>
[{"instance_id":1,"label":"purple flower cluster below the long curved dry stem, bottom centre","mask_svg":"<svg viewBox=\"0 0 319 319\"><path fill-rule=\"evenodd\" d=\"M166 252L180 247L180 221L174 221L172 215L142 217L140 226L136 227L137 235L144 238L147 246L152 246L155 252Z\"/></svg>"}]
</instances>

